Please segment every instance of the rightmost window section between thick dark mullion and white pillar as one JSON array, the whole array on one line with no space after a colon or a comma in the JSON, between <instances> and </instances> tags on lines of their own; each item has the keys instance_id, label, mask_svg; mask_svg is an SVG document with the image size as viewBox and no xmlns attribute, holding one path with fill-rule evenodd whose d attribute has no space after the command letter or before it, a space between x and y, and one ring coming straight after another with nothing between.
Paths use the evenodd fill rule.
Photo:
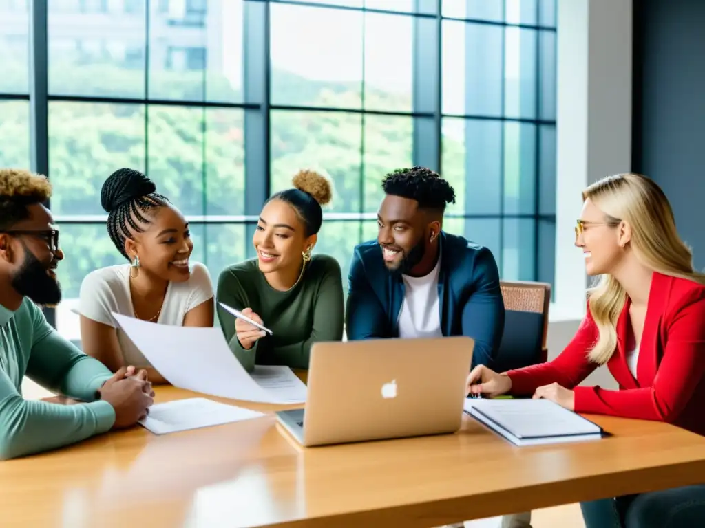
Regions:
<instances>
[{"instance_id":1,"label":"rightmost window section between thick dark mullion and white pillar","mask_svg":"<svg viewBox=\"0 0 705 528\"><path fill-rule=\"evenodd\" d=\"M503 279L553 282L556 2L442 7L441 170L460 198L448 230L488 246Z\"/></svg>"}]
</instances>

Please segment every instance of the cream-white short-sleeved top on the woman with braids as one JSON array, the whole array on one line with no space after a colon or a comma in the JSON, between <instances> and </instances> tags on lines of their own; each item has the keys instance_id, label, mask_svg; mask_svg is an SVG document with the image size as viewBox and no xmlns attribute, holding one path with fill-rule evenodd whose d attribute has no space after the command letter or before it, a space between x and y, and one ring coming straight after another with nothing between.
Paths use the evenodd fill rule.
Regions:
<instances>
[{"instance_id":1,"label":"cream-white short-sleeved top on the woman with braids","mask_svg":"<svg viewBox=\"0 0 705 528\"><path fill-rule=\"evenodd\" d=\"M207 268L192 263L191 275L185 282L169 282L157 323L183 325L183 318L192 308L213 298L213 284ZM118 325L111 312L135 317L130 294L130 265L100 268L86 275L81 283L78 311L81 315L118 331L118 341L126 365L151 367L147 358Z\"/></svg>"}]
</instances>

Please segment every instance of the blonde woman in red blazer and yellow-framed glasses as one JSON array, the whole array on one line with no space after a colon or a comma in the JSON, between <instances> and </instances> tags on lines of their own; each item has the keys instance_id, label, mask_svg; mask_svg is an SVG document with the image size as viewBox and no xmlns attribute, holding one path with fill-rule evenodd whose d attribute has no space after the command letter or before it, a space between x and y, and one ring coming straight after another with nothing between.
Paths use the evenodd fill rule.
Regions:
<instances>
[{"instance_id":1,"label":"blonde woman in red blazer and yellow-framed glasses","mask_svg":"<svg viewBox=\"0 0 705 528\"><path fill-rule=\"evenodd\" d=\"M472 394L545 398L577 413L672 423L705 435L705 275L678 236L663 191L636 174L583 192L575 228L587 315L553 361L498 374L478 365ZM619 390L577 386L606 364ZM705 476L704 476L705 480ZM587 528L705 526L705 486L582 504Z\"/></svg>"}]
</instances>

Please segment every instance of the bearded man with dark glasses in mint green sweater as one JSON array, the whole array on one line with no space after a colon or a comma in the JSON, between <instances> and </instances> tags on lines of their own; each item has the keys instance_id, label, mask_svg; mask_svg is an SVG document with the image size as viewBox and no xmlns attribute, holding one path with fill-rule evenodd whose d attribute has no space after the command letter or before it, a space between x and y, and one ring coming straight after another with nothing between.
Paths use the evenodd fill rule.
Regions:
<instances>
[{"instance_id":1,"label":"bearded man with dark glasses in mint green sweater","mask_svg":"<svg viewBox=\"0 0 705 528\"><path fill-rule=\"evenodd\" d=\"M145 372L113 375L61 337L37 305L61 301L63 259L46 177L0 169L0 458L74 444L135 425L152 405ZM22 397L23 377L80 402L64 406Z\"/></svg>"}]
</instances>

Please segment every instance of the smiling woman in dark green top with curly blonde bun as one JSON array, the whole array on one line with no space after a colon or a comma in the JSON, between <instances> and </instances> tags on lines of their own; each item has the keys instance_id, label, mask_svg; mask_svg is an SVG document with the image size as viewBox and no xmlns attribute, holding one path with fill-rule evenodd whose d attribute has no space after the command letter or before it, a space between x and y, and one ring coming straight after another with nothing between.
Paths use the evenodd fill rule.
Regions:
<instances>
[{"instance_id":1,"label":"smiling woman in dark green top with curly blonde bun","mask_svg":"<svg viewBox=\"0 0 705 528\"><path fill-rule=\"evenodd\" d=\"M311 254L331 184L310 170L298 172L293 184L259 213L252 237L257 258L226 268L218 280L218 301L272 331L265 337L217 307L223 334L249 371L255 364L307 369L314 342L343 339L341 267L331 256Z\"/></svg>"}]
</instances>

